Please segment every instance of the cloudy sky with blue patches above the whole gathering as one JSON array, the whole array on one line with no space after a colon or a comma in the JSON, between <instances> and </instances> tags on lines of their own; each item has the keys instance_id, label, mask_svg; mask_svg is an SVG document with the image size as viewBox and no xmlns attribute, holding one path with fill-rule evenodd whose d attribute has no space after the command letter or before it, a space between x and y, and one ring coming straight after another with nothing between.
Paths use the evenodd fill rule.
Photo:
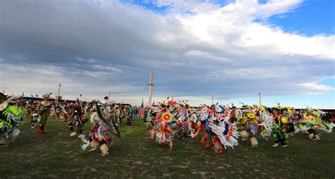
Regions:
<instances>
[{"instance_id":1,"label":"cloudy sky with blue patches above the whole gathering","mask_svg":"<svg viewBox=\"0 0 335 179\"><path fill-rule=\"evenodd\" d=\"M0 90L335 109L332 0L0 1Z\"/></svg>"}]
</instances>

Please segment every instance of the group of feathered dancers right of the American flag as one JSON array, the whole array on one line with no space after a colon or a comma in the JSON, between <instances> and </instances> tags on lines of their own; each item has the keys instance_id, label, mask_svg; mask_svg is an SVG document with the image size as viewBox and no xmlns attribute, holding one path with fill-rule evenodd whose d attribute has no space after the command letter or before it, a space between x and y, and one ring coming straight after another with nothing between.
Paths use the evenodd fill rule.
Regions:
<instances>
[{"instance_id":1,"label":"group of feathered dancers right of the American flag","mask_svg":"<svg viewBox=\"0 0 335 179\"><path fill-rule=\"evenodd\" d=\"M266 140L272 137L273 147L281 144L288 147L289 135L307 133L310 140L320 140L322 133L330 133L334 123L329 113L317 109L295 111L290 107L201 105L191 109L188 104L167 101L151 106L146 118L149 139L158 144L167 144L173 149L173 139L197 137L201 131L201 143L211 147L217 154L227 147L234 148L241 140L250 140L252 147L258 147L258 137Z\"/></svg>"}]
</instances>

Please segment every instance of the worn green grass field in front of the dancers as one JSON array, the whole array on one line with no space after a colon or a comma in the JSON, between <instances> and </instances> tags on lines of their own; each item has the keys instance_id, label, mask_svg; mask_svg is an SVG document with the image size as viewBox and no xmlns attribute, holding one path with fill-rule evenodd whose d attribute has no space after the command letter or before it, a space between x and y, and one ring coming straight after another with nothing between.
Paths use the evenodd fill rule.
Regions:
<instances>
[{"instance_id":1,"label":"worn green grass field in front of the dancers","mask_svg":"<svg viewBox=\"0 0 335 179\"><path fill-rule=\"evenodd\" d=\"M307 135L290 137L289 145L271 147L271 140L249 140L235 149L215 154L196 139L175 139L168 147L146 140L147 130L139 121L133 128L120 128L124 137L100 151L82 152L81 140L69 137L67 124L49 118L46 134L30 129L29 119L11 147L0 148L0 178L334 178L335 133L312 142ZM90 123L86 124L88 132Z\"/></svg>"}]
</instances>

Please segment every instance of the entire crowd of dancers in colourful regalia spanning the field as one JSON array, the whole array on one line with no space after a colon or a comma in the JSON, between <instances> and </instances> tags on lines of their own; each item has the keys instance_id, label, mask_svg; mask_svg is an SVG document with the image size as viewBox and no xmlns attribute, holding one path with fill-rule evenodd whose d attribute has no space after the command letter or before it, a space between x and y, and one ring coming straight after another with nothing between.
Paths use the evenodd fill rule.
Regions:
<instances>
[{"instance_id":1,"label":"entire crowd of dancers in colourful regalia spanning the field","mask_svg":"<svg viewBox=\"0 0 335 179\"><path fill-rule=\"evenodd\" d=\"M48 116L55 116L67 124L70 136L81 138L86 150L94 152L100 146L102 156L109 154L109 146L122 137L119 127L122 119L127 125L139 115L139 108L124 106L109 101L83 102L79 99L67 103L49 101L50 94L41 101L23 101L22 97L8 97L0 93L0 147L8 147L18 136L18 126L23 116L31 118L31 128L38 127L38 134L45 134ZM201 137L204 147L222 154L228 147L234 148L240 140L250 140L251 147L258 147L259 137L274 141L273 147L281 144L288 147L288 138L298 132L307 133L310 140L320 140L322 133L334 128L334 116L317 109L296 111L290 107L223 106L213 104L191 108L189 104L177 101L163 101L147 106L143 119L148 129L148 139L158 144L167 144L173 150L175 137ZM90 121L90 131L84 132L84 125ZM202 132L201 132L202 131ZM86 133L86 135L84 135Z\"/></svg>"}]
</instances>

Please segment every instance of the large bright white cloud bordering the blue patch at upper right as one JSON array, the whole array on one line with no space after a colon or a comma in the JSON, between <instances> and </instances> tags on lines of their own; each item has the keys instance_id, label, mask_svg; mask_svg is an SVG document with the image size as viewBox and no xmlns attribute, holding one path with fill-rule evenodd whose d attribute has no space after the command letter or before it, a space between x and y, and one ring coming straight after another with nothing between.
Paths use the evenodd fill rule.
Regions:
<instances>
[{"instance_id":1,"label":"large bright white cloud bordering the blue patch at upper right","mask_svg":"<svg viewBox=\"0 0 335 179\"><path fill-rule=\"evenodd\" d=\"M300 3L301 1L269 1L263 5L257 4L257 1L237 1L206 13L177 18L194 39L218 49L235 46L243 51L259 51L273 56L302 55L334 60L335 35L307 37L253 21L258 18L258 13L265 12L267 15L264 17L269 17L290 11Z\"/></svg>"}]
</instances>

